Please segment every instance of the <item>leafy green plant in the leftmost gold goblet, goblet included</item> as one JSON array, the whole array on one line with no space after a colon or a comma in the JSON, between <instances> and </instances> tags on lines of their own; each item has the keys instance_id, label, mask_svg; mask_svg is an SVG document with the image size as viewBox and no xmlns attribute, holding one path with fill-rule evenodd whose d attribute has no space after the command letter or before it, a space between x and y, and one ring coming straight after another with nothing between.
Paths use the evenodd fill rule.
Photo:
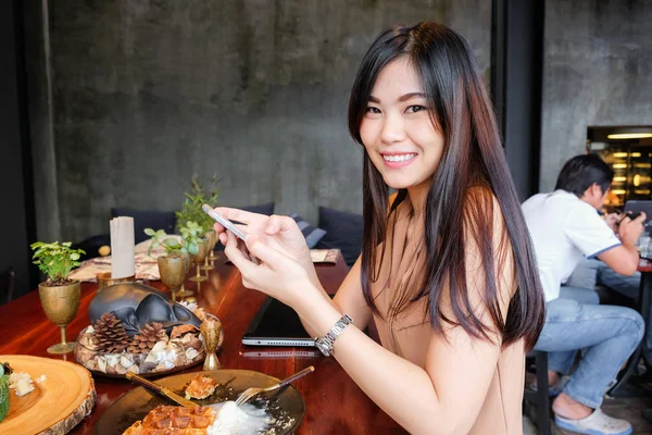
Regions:
<instances>
[{"instance_id":1,"label":"leafy green plant in the leftmost gold goblet, goblet included","mask_svg":"<svg viewBox=\"0 0 652 435\"><path fill-rule=\"evenodd\" d=\"M65 326L75 319L79 308L82 285L78 281L70 279L68 275L77 268L84 252L82 249L72 249L70 241L46 244L37 241L32 244L34 250L34 264L47 276L38 285L38 295L41 306L50 322L61 328L61 343L48 348L50 353L67 353L74 350L75 343L65 339Z\"/></svg>"}]
</instances>

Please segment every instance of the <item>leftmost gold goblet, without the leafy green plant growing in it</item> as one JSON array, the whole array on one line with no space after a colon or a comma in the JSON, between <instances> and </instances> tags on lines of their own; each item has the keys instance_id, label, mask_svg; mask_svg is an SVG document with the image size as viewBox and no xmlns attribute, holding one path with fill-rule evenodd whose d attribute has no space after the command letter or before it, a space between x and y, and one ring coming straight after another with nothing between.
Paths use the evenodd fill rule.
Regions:
<instances>
[{"instance_id":1,"label":"leftmost gold goblet, without the leafy green plant growing in it","mask_svg":"<svg viewBox=\"0 0 652 435\"><path fill-rule=\"evenodd\" d=\"M38 285L38 296L50 322L61 328L61 343L50 346L48 353L62 355L72 352L75 349L75 341L66 341L65 326L75 319L79 309L82 285L77 282L50 287L41 283Z\"/></svg>"}]
</instances>

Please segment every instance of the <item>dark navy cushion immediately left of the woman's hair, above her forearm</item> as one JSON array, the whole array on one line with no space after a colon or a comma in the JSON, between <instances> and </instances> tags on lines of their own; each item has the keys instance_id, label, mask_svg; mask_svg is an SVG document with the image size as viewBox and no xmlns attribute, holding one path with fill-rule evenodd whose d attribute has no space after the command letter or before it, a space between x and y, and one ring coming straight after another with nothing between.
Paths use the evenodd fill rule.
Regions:
<instances>
[{"instance_id":1,"label":"dark navy cushion immediately left of the woman's hair, above her forearm","mask_svg":"<svg viewBox=\"0 0 652 435\"><path fill-rule=\"evenodd\" d=\"M319 249L340 249L348 265L353 265L362 250L362 214L319 207L319 228L326 235L317 244Z\"/></svg>"}]
</instances>

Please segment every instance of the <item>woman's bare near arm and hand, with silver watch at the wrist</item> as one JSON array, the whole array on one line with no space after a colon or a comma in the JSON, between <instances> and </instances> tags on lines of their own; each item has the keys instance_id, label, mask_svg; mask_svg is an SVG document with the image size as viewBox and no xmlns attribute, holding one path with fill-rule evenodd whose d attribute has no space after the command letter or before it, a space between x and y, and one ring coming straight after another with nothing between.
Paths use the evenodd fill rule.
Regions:
<instances>
[{"instance_id":1,"label":"woman's bare near arm and hand, with silver watch at the wrist","mask_svg":"<svg viewBox=\"0 0 652 435\"><path fill-rule=\"evenodd\" d=\"M502 216L500 222L501 226L494 234L502 234ZM229 235L227 254L242 272L244 285L265 290L294 308L308 330L323 336L346 312L326 300L321 288L308 284L310 281L303 276L303 269L285 261L278 251L260 239L248 239L248 246L262 260L261 265L241 257L235 237ZM494 249L498 250L498 244L494 244ZM511 256L507 257L511 259ZM427 343L425 368L419 368L367 337L356 326L353 315L354 325L348 326L335 341L334 356L347 373L372 400L411 433L466 434L485 401L501 343L484 302L486 284L484 274L478 270L481 271L479 251L469 244L466 247L469 299L474 313L485 322L494 343L474 338L460 326L449 328L444 335L432 332ZM504 318L513 291L512 264L503 264L497 270L497 276ZM275 286L273 283L279 284ZM449 308L443 311L454 319L450 302L442 301L442 308L447 303ZM351 312L348 313L351 315Z\"/></svg>"}]
</instances>

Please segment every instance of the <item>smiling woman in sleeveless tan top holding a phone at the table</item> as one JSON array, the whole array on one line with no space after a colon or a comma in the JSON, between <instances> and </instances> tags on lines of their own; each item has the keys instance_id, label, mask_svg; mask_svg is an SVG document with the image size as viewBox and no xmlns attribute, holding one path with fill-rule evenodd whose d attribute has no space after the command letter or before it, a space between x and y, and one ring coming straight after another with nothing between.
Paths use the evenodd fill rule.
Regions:
<instances>
[{"instance_id":1,"label":"smiling woman in sleeveless tan top holding a phone at the table","mask_svg":"<svg viewBox=\"0 0 652 435\"><path fill-rule=\"evenodd\" d=\"M325 356L413 434L521 434L525 351L543 322L534 251L466 41L436 23L383 33L358 72L362 256L333 300L294 221L218 209L242 282L292 307ZM396 194L390 195L391 190ZM362 331L375 321L380 345Z\"/></svg>"}]
</instances>

